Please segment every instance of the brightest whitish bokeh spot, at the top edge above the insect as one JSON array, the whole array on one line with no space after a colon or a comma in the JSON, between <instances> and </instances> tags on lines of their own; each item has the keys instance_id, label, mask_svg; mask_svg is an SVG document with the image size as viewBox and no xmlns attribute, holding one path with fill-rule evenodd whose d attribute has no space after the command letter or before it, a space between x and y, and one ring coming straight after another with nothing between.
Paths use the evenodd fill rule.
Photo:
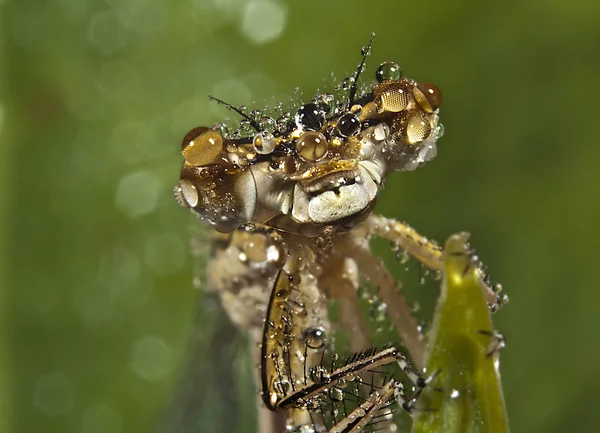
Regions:
<instances>
[{"instance_id":1,"label":"brightest whitish bokeh spot, at the top edge above the insect","mask_svg":"<svg viewBox=\"0 0 600 433\"><path fill-rule=\"evenodd\" d=\"M242 18L242 33L255 44L265 44L283 33L286 19L285 8L276 1L249 1Z\"/></svg>"}]
</instances>

